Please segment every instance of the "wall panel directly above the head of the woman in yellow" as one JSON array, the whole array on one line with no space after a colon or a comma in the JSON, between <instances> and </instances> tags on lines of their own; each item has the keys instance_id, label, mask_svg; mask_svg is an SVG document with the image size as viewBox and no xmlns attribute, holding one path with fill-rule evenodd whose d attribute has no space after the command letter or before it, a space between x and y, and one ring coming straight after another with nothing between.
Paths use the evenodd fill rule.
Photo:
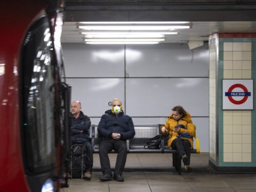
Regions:
<instances>
[{"instance_id":1,"label":"wall panel directly above the head of the woman in yellow","mask_svg":"<svg viewBox=\"0 0 256 192\"><path fill-rule=\"evenodd\" d=\"M208 79L126 79L126 112L131 116L167 116L182 105L192 116L208 116Z\"/></svg>"}]
</instances>

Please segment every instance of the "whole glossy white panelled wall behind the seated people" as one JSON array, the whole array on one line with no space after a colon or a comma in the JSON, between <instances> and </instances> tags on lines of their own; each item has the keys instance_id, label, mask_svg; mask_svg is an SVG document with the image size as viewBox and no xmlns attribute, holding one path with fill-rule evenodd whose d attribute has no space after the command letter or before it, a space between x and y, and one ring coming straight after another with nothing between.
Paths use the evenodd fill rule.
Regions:
<instances>
[{"instance_id":1,"label":"whole glossy white panelled wall behind the seated people","mask_svg":"<svg viewBox=\"0 0 256 192\"><path fill-rule=\"evenodd\" d=\"M208 142L208 44L88 45L63 43L71 100L98 124L113 98L123 101L134 124L164 124L175 105L190 112L201 151Z\"/></svg>"}]
</instances>

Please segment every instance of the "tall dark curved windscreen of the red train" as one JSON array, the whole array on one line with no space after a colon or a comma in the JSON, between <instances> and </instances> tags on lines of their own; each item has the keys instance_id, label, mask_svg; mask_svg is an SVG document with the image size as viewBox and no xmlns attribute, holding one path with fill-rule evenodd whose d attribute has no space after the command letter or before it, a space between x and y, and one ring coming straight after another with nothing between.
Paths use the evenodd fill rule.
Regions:
<instances>
[{"instance_id":1,"label":"tall dark curved windscreen of the red train","mask_svg":"<svg viewBox=\"0 0 256 192\"><path fill-rule=\"evenodd\" d=\"M21 126L27 174L54 168L54 62L48 18L28 30L20 63Z\"/></svg>"}]
</instances>

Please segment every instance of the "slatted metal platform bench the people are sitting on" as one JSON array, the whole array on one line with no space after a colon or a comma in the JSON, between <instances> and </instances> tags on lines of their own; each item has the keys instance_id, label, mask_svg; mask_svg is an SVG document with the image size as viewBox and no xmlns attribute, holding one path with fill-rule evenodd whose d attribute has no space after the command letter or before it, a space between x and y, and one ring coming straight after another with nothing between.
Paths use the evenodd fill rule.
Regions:
<instances>
[{"instance_id":1,"label":"slatted metal platform bench the people are sitting on","mask_svg":"<svg viewBox=\"0 0 256 192\"><path fill-rule=\"evenodd\" d=\"M150 138L159 135L160 126L152 125L152 126L134 126L135 129L135 137L127 140L127 152L128 153L172 153L172 166L176 169L179 174L182 172L182 163L179 157L179 153L175 149L169 149L167 146L168 137L162 137L160 148L159 149L145 149L147 141ZM91 144L93 146L94 153L99 152L99 143L100 138L98 137L98 131L96 131L97 126L91 126ZM115 152L115 151L111 151ZM191 149L191 153L199 153L199 140L196 138L196 149Z\"/></svg>"}]
</instances>

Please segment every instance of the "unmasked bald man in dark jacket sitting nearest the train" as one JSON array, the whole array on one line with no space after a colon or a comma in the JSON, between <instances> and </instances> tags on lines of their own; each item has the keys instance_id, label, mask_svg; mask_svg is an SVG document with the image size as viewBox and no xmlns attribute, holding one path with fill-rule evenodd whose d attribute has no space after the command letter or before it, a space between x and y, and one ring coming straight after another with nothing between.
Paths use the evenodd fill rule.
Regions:
<instances>
[{"instance_id":1,"label":"unmasked bald man in dark jacket sitting nearest the train","mask_svg":"<svg viewBox=\"0 0 256 192\"><path fill-rule=\"evenodd\" d=\"M87 115L81 111L79 101L71 102L71 112L69 113L69 124L71 127L72 144L84 144L86 148L84 179L91 180L93 171L93 148L90 143L91 121Z\"/></svg>"}]
</instances>

